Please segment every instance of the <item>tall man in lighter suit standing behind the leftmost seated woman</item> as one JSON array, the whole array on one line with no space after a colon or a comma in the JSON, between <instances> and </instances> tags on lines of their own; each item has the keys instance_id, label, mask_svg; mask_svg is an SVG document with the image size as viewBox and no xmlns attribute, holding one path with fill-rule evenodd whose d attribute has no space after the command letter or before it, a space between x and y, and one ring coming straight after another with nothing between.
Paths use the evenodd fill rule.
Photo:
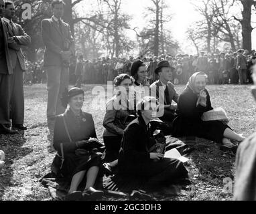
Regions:
<instances>
[{"instance_id":1,"label":"tall man in lighter suit standing behind the leftmost seated woman","mask_svg":"<svg viewBox=\"0 0 256 214\"><path fill-rule=\"evenodd\" d=\"M60 99L68 90L68 72L71 56L74 56L74 39L70 26L62 21L65 3L52 1L53 16L42 20L42 39L46 45L44 51L44 68L47 72L48 120L65 112Z\"/></svg>"}]
</instances>

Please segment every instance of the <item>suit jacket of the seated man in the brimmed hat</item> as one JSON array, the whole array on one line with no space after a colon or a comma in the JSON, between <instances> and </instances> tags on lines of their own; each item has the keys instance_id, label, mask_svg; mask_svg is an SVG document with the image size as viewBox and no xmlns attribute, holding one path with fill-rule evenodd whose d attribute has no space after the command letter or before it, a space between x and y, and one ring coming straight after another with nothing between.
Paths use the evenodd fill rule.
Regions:
<instances>
[{"instance_id":1,"label":"suit jacket of the seated man in the brimmed hat","mask_svg":"<svg viewBox=\"0 0 256 214\"><path fill-rule=\"evenodd\" d=\"M164 90L160 90L159 92L159 87L161 86L163 87L160 80L153 82L150 86L151 96L156 96L155 98L159 99L160 104L163 104L162 102L164 101L164 104L167 105ZM179 95L174 89L174 84L172 84L172 82L168 82L166 87L168 88L170 102L174 100L174 102L178 103Z\"/></svg>"}]
</instances>

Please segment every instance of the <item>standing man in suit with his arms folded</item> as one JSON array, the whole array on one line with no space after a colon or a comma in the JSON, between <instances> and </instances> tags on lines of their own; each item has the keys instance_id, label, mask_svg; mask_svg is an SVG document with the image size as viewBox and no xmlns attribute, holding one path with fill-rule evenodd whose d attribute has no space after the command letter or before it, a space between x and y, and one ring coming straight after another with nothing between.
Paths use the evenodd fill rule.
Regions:
<instances>
[{"instance_id":1,"label":"standing man in suit with his arms folded","mask_svg":"<svg viewBox=\"0 0 256 214\"><path fill-rule=\"evenodd\" d=\"M13 23L15 14L12 1L5 2L5 17L7 23L9 39L9 54L13 66L13 75L11 76L11 122L13 128L17 130L27 130L23 126L24 122L24 92L23 92L23 72L25 72L25 57L21 51L22 45L29 45L31 42L29 35L25 33L21 25Z\"/></svg>"}]
</instances>

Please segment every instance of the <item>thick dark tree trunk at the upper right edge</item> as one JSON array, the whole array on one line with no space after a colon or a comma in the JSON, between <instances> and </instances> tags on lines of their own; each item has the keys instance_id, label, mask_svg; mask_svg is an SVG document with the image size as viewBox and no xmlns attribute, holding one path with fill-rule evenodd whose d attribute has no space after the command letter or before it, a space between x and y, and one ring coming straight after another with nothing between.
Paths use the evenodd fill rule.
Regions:
<instances>
[{"instance_id":1,"label":"thick dark tree trunk at the upper right edge","mask_svg":"<svg viewBox=\"0 0 256 214\"><path fill-rule=\"evenodd\" d=\"M241 0L243 4L241 21L242 24L242 36L243 36L243 49L247 49L251 52L251 32L253 28L251 27L251 7L254 3L253 0Z\"/></svg>"}]
</instances>

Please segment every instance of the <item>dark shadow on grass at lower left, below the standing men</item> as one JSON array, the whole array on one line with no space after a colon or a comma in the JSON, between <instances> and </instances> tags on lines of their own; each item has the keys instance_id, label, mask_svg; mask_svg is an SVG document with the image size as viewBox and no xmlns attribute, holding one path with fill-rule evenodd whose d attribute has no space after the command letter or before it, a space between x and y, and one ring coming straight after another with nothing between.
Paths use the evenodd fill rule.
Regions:
<instances>
[{"instance_id":1,"label":"dark shadow on grass at lower left, below the standing men","mask_svg":"<svg viewBox=\"0 0 256 214\"><path fill-rule=\"evenodd\" d=\"M24 156L33 152L31 148L22 147L25 142L24 132L13 135L0 134L0 148L5 152L5 167L0 171L0 201L5 189L15 186L13 173L17 169L14 168L19 167L19 161Z\"/></svg>"}]
</instances>

